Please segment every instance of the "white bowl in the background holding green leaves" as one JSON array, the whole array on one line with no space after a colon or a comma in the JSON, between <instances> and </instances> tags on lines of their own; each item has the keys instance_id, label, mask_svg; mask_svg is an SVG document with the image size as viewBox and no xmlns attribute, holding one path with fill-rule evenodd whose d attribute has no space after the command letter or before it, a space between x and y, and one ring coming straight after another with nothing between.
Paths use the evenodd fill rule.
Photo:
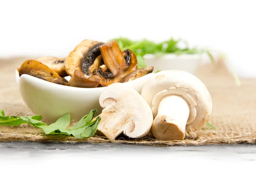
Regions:
<instances>
[{"instance_id":1,"label":"white bowl in the background holding green leaves","mask_svg":"<svg viewBox=\"0 0 256 171\"><path fill-rule=\"evenodd\" d=\"M191 74L195 74L201 54L166 54L163 56L155 56L154 54L146 54L144 56L147 66L154 66L157 70L183 70Z\"/></svg>"}]
</instances>

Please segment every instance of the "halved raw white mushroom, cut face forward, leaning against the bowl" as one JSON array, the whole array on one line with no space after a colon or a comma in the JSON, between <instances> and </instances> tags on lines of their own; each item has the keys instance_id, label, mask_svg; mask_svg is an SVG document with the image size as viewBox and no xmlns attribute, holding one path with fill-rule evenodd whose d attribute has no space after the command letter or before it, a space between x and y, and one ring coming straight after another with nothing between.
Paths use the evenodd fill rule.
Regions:
<instances>
[{"instance_id":1,"label":"halved raw white mushroom, cut face forward, leaning against the bowl","mask_svg":"<svg viewBox=\"0 0 256 171\"><path fill-rule=\"evenodd\" d=\"M152 111L133 88L122 83L111 84L100 95L99 104L103 110L98 130L108 138L115 139L122 132L128 137L139 138L150 131Z\"/></svg>"}]
</instances>

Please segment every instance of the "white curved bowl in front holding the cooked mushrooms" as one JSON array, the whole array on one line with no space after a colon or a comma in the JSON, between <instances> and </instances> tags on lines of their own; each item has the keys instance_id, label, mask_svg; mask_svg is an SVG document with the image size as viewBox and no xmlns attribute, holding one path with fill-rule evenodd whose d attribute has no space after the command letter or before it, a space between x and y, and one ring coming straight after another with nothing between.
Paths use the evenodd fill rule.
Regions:
<instances>
[{"instance_id":1,"label":"white curved bowl in front holding the cooked mushrooms","mask_svg":"<svg viewBox=\"0 0 256 171\"><path fill-rule=\"evenodd\" d=\"M123 83L133 87L137 92L154 73L133 81ZM16 70L16 82L23 101L35 115L42 115L43 121L52 123L66 113L70 113L71 119L79 120L87 115L91 109L102 108L99 106L99 96L105 87L78 88L54 84L39 78L23 74L19 77Z\"/></svg>"}]
</instances>

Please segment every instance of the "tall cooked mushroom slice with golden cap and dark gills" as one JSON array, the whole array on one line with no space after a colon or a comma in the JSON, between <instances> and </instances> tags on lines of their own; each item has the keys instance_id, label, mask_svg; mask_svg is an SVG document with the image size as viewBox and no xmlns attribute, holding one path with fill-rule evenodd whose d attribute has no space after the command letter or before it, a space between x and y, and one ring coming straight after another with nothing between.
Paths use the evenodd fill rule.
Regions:
<instances>
[{"instance_id":1,"label":"tall cooked mushroom slice with golden cap and dark gills","mask_svg":"<svg viewBox=\"0 0 256 171\"><path fill-rule=\"evenodd\" d=\"M93 64L96 57L100 55L99 45L102 44L102 42L93 40L83 40L80 42L79 45L77 45L76 48L70 52L65 61L66 73L73 76L75 70L80 70L86 75L90 75L88 69L90 65Z\"/></svg>"}]
</instances>

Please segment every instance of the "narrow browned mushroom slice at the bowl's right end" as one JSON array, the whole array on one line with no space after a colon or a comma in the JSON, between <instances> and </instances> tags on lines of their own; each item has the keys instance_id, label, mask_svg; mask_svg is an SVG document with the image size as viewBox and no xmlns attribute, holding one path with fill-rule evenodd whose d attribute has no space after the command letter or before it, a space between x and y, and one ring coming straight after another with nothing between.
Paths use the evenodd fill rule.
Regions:
<instances>
[{"instance_id":1,"label":"narrow browned mushroom slice at the bowl's right end","mask_svg":"<svg viewBox=\"0 0 256 171\"><path fill-rule=\"evenodd\" d=\"M154 67L145 67L145 68L135 70L135 71L129 73L124 78L122 78L122 80L120 82L124 83L124 82L135 80L137 78L147 75L148 73L152 73L153 70L154 70Z\"/></svg>"}]
</instances>

